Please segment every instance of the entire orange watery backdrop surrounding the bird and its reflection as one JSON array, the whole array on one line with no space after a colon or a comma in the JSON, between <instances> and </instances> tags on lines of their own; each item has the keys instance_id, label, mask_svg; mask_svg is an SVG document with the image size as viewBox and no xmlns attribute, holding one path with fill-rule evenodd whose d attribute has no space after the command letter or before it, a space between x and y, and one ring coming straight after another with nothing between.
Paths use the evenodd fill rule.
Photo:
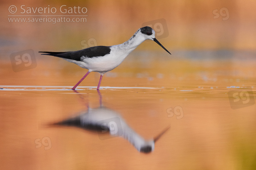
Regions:
<instances>
[{"instance_id":1,"label":"entire orange watery backdrop surrounding the bird and its reflection","mask_svg":"<svg viewBox=\"0 0 256 170\"><path fill-rule=\"evenodd\" d=\"M1 169L255 169L255 5L252 0L2 0ZM172 55L146 40L104 74L101 86L160 90L101 94L104 105L145 138L171 124L153 153L139 153L122 139L100 141L76 129L41 128L85 105L97 107L99 96L87 87L80 94L48 91L47 86L75 85L87 70L38 51L122 44L144 26L155 30ZM99 77L90 73L81 86L96 86ZM241 94L243 88L251 104L235 108L239 104L228 92ZM184 118L167 116L175 106L183 108ZM51 149L35 147L34 140L43 137L51 139Z\"/></svg>"}]
</instances>

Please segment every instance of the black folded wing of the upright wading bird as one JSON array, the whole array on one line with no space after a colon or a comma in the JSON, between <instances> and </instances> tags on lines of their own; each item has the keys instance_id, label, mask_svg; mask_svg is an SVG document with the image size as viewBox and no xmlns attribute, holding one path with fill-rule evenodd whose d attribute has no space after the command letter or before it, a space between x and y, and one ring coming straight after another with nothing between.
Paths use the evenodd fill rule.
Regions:
<instances>
[{"instance_id":1,"label":"black folded wing of the upright wading bird","mask_svg":"<svg viewBox=\"0 0 256 170\"><path fill-rule=\"evenodd\" d=\"M69 51L69 52L47 52L47 51L39 51L40 53L48 53L42 55L52 55L61 58L67 58L71 60L81 61L81 57L99 57L104 56L110 53L110 47L108 46L96 46L96 47L89 47L79 51Z\"/></svg>"}]
</instances>

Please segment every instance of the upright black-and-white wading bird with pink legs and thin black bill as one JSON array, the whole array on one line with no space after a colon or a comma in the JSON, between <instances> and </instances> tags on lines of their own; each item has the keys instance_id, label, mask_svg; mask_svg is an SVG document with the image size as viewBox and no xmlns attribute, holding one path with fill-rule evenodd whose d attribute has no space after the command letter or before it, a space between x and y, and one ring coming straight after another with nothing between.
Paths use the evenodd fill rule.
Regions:
<instances>
[{"instance_id":1,"label":"upright black-and-white wading bird with pink legs and thin black bill","mask_svg":"<svg viewBox=\"0 0 256 170\"><path fill-rule=\"evenodd\" d=\"M128 41L119 45L95 46L79 51L69 52L39 52L44 53L42 55L52 55L63 58L68 62L75 63L82 68L88 69L84 77L79 82L77 82L74 87L72 87L72 90L75 90L75 88L85 79L85 77L90 72L99 72L100 80L97 86L97 90L99 90L103 74L119 66L127 57L127 55L129 55L134 49L136 49L143 41L147 39L155 41L159 46L171 54L156 39L155 31L151 27L147 26L138 29L138 31L134 33L134 35Z\"/></svg>"}]
</instances>

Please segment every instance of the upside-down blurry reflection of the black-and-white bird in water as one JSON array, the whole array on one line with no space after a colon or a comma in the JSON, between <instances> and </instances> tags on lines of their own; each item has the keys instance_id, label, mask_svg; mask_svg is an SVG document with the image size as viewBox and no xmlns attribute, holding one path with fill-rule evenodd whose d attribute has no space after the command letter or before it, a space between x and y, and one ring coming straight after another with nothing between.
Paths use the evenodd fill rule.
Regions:
<instances>
[{"instance_id":1,"label":"upside-down blurry reflection of the black-and-white bird in water","mask_svg":"<svg viewBox=\"0 0 256 170\"><path fill-rule=\"evenodd\" d=\"M77 92L77 91L75 91ZM77 92L78 93L78 92ZM75 117L53 123L52 125L76 126L85 130L98 132L100 139L111 137L123 137L128 140L139 152L150 153L155 149L155 142L170 128L166 128L156 137L145 140L136 133L124 120L124 118L113 109L106 108L102 105L102 96L100 92L100 107L88 108L87 111ZM106 137L104 134L108 134Z\"/></svg>"}]
</instances>

